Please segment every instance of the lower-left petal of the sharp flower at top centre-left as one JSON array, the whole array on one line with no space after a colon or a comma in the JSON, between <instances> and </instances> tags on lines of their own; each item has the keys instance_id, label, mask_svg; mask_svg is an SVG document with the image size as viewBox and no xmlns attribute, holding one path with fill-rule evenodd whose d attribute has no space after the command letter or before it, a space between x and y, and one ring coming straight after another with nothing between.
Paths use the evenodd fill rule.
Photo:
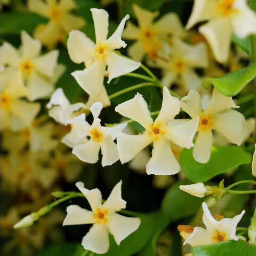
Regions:
<instances>
[{"instance_id":1,"label":"lower-left petal of the sharp flower at top centre-left","mask_svg":"<svg viewBox=\"0 0 256 256\"><path fill-rule=\"evenodd\" d=\"M89 68L77 70L71 73L75 77L76 82L89 95L98 95L103 87L103 80L106 66L103 61L95 61Z\"/></svg>"}]
</instances>

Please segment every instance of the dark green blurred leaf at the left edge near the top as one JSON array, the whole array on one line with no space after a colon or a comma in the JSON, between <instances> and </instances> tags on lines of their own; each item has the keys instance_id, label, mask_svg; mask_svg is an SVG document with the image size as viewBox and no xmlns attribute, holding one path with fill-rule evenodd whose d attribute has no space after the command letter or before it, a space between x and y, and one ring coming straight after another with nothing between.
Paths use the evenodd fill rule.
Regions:
<instances>
[{"instance_id":1,"label":"dark green blurred leaf at the left edge near the top","mask_svg":"<svg viewBox=\"0 0 256 256\"><path fill-rule=\"evenodd\" d=\"M1 13L1 35L20 34L21 30L32 34L38 24L46 23L43 17L31 12Z\"/></svg>"}]
</instances>

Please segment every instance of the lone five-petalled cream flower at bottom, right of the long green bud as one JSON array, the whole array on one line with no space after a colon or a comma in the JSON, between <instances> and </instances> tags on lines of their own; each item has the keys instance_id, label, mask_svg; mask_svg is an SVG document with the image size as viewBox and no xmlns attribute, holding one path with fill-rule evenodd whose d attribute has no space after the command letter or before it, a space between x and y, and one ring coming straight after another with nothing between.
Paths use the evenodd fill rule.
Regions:
<instances>
[{"instance_id":1,"label":"lone five-petalled cream flower at bottom, right of the long green bud","mask_svg":"<svg viewBox=\"0 0 256 256\"><path fill-rule=\"evenodd\" d=\"M139 218L125 217L116 213L126 207L126 202L121 195L121 186L120 180L102 204L102 196L98 188L89 190L84 188L83 182L76 183L76 187L84 194L92 211L78 205L69 205L63 226L93 224L82 240L85 250L103 254L109 249L108 233L114 236L116 244L119 245L139 228Z\"/></svg>"}]
</instances>

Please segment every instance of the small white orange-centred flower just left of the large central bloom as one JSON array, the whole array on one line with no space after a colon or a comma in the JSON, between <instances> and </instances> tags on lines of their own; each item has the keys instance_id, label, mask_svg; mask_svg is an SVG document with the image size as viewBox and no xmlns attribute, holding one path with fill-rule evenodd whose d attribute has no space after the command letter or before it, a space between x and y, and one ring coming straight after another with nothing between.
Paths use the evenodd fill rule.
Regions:
<instances>
[{"instance_id":1,"label":"small white orange-centred flower just left of the large central bloom","mask_svg":"<svg viewBox=\"0 0 256 256\"><path fill-rule=\"evenodd\" d=\"M92 125L88 124L85 120L78 121L76 124L73 122L74 119L70 121L73 122L72 130L79 127L78 130L81 131L82 127L84 129L82 134L91 137L90 140L85 143L78 143L75 145L72 152L80 160L94 164L99 160L99 151L101 149L101 164L102 166L106 166L114 164L119 160L117 146L114 140L116 139L117 133L122 132L127 124L117 124L114 127L101 126L101 120L98 117L102 108L103 106L101 102L94 103L90 108L94 118Z\"/></svg>"}]
</instances>

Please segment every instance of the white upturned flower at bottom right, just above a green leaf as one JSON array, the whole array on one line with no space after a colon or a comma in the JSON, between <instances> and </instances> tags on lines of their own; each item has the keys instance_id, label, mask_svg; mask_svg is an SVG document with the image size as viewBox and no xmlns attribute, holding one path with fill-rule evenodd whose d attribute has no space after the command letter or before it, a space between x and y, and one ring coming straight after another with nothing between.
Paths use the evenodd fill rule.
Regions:
<instances>
[{"instance_id":1,"label":"white upturned flower at bottom right, just above a green leaf","mask_svg":"<svg viewBox=\"0 0 256 256\"><path fill-rule=\"evenodd\" d=\"M203 222L206 229L195 227L193 233L186 239L183 245L190 244L191 246L214 244L227 240L238 240L236 236L236 226L242 219L244 212L234 218L224 218L220 221L215 220L207 204L203 203Z\"/></svg>"}]
</instances>

